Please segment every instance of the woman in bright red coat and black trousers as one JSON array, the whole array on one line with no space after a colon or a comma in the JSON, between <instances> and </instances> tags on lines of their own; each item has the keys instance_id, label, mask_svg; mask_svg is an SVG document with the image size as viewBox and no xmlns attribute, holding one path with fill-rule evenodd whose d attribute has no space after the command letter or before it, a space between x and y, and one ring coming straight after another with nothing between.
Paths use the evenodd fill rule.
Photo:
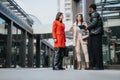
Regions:
<instances>
[{"instance_id":1,"label":"woman in bright red coat and black trousers","mask_svg":"<svg viewBox=\"0 0 120 80\"><path fill-rule=\"evenodd\" d=\"M65 50L65 24L62 22L63 13L58 12L52 25L55 54L53 56L53 70L64 70L62 61Z\"/></svg>"}]
</instances>

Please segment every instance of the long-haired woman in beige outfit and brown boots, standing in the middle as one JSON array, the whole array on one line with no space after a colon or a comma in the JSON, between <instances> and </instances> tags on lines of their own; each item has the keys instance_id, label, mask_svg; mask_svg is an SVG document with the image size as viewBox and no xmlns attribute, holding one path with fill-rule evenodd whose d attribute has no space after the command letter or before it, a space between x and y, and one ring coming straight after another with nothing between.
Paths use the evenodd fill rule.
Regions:
<instances>
[{"instance_id":1,"label":"long-haired woman in beige outfit and brown boots, standing in the middle","mask_svg":"<svg viewBox=\"0 0 120 80\"><path fill-rule=\"evenodd\" d=\"M83 27L85 27L85 28L82 29ZM82 30L85 31L86 27L87 27L87 23L83 21L82 14L77 14L76 21L69 30L69 31L73 31L73 46L75 46L78 70L81 70L81 68L82 68L80 47L82 47L82 51L83 51L84 57L85 57L85 69L89 69L89 56L88 56L88 50L87 50L87 40L82 39L82 33L83 33Z\"/></svg>"}]
</instances>

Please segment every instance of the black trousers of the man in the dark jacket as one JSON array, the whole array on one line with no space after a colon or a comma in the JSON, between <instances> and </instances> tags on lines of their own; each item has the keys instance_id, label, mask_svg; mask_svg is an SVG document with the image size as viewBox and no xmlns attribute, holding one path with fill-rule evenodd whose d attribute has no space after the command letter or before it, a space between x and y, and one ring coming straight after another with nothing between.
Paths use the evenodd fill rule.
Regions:
<instances>
[{"instance_id":1,"label":"black trousers of the man in the dark jacket","mask_svg":"<svg viewBox=\"0 0 120 80\"><path fill-rule=\"evenodd\" d=\"M88 38L88 53L90 67L103 68L102 35L92 35Z\"/></svg>"}]
</instances>

